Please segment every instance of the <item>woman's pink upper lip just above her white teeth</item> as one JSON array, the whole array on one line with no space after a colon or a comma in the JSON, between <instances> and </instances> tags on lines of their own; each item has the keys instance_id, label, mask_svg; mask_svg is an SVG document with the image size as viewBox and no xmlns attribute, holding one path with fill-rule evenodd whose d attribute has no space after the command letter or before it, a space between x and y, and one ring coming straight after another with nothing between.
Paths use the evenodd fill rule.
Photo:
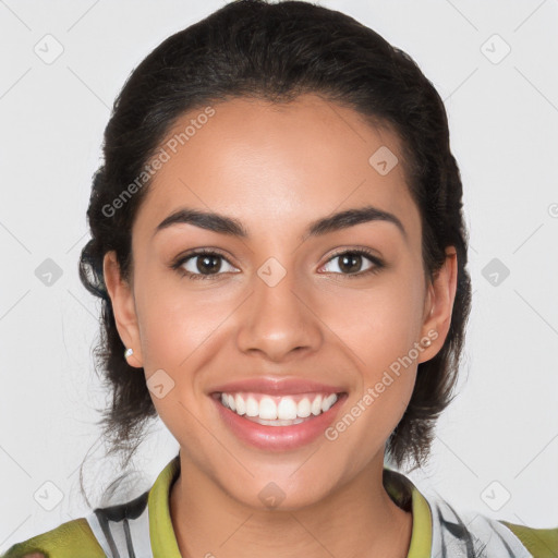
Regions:
<instances>
[{"instance_id":1,"label":"woman's pink upper lip just above her white teeth","mask_svg":"<svg viewBox=\"0 0 558 558\"><path fill-rule=\"evenodd\" d=\"M328 386L319 381L303 378L272 378L258 377L245 378L235 381L229 381L216 386L210 390L211 393L235 393L235 392L254 392L288 396L294 393L341 393L343 389L339 386Z\"/></svg>"}]
</instances>

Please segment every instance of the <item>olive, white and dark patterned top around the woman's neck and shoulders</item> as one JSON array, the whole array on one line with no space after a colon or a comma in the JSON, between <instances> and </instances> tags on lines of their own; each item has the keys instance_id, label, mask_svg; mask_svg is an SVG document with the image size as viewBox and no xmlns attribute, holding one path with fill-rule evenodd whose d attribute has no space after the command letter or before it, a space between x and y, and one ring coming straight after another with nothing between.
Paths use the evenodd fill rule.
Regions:
<instances>
[{"instance_id":1,"label":"olive, white and dark patterned top around the woman's neck and shoulders","mask_svg":"<svg viewBox=\"0 0 558 558\"><path fill-rule=\"evenodd\" d=\"M151 488L134 500L96 509L13 545L0 558L33 551L47 558L181 558L169 510L170 489L179 474L177 456ZM440 498L426 498L407 476L388 468L383 481L392 500L413 514L408 558L558 557L558 527L532 529L474 512L458 513Z\"/></svg>"}]
</instances>

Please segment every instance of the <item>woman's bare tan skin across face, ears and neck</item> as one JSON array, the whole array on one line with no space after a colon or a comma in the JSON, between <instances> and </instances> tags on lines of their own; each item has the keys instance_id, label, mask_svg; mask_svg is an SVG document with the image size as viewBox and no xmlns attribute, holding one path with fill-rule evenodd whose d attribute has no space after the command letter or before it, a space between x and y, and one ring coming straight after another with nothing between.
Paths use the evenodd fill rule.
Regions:
<instances>
[{"instance_id":1,"label":"woman's bare tan skin across face, ears and neck","mask_svg":"<svg viewBox=\"0 0 558 558\"><path fill-rule=\"evenodd\" d=\"M105 257L118 330L134 350L129 363L147 378L162 368L174 381L163 398L151 398L181 448L170 495L180 550L405 557L412 514L383 486L385 442L409 403L418 363L435 356L448 333L456 252L448 247L428 282L418 209L399 138L387 128L315 95L281 106L233 99L214 108L149 186L132 231L131 281L120 276L113 253ZM197 113L184 114L169 137ZM380 146L400 161L386 175L368 163ZM364 205L395 214L407 236L376 220L302 238L311 221ZM154 235L183 206L233 217L250 236L189 223ZM343 271L333 253L359 246L385 267L364 274L374 264L363 256L354 271ZM197 247L220 248L220 275L192 280L170 268ZM275 287L257 275L269 257L286 270ZM204 272L196 264L182 268ZM437 332L432 344L335 441L320 436L284 452L253 448L223 426L208 396L218 384L247 377L313 379L348 393L341 417L428 332ZM274 510L258 498L270 482L284 493Z\"/></svg>"}]
</instances>

